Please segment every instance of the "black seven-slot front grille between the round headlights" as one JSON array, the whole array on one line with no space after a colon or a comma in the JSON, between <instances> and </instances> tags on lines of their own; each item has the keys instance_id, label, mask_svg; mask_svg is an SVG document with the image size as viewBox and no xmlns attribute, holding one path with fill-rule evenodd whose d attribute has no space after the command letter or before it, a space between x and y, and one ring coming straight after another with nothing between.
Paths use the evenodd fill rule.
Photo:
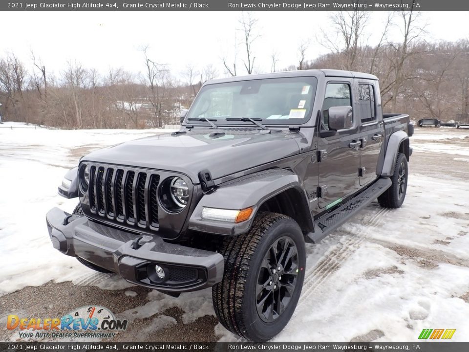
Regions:
<instances>
[{"instance_id":1,"label":"black seven-slot front grille between the round headlights","mask_svg":"<svg viewBox=\"0 0 469 352\"><path fill-rule=\"evenodd\" d=\"M158 174L107 166L91 166L89 208L97 218L141 228L158 227Z\"/></svg>"}]
</instances>

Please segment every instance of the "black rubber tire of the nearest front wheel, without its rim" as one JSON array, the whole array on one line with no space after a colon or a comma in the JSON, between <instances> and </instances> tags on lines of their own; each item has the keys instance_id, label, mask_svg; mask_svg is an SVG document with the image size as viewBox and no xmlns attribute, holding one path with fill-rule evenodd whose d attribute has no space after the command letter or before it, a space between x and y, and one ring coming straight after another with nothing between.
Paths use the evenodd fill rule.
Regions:
<instances>
[{"instance_id":1,"label":"black rubber tire of the nearest front wheel, without its rim","mask_svg":"<svg viewBox=\"0 0 469 352\"><path fill-rule=\"evenodd\" d=\"M296 284L283 312L274 321L265 322L256 308L256 283L264 256L278 239L285 237L298 251ZM225 238L219 252L225 258L225 270L222 281L212 289L218 320L226 329L248 340L271 339L287 325L303 286L306 253L298 223L282 214L260 213L248 233Z\"/></svg>"}]
</instances>

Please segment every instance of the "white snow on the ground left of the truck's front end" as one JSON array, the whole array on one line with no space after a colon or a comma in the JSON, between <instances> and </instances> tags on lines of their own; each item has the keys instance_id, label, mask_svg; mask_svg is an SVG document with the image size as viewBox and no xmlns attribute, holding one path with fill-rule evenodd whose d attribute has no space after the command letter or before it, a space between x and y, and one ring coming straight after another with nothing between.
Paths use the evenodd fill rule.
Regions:
<instances>
[{"instance_id":1,"label":"white snow on the ground left of the truck's front end","mask_svg":"<svg viewBox=\"0 0 469 352\"><path fill-rule=\"evenodd\" d=\"M74 258L58 256L46 236L47 211L58 206L71 212L77 204L77 199L57 194L64 174L93 149L166 132L171 130L53 130L12 122L0 125L0 295L50 280L81 283L77 277L89 275L89 270ZM112 289L130 286L115 277L102 284Z\"/></svg>"}]
</instances>

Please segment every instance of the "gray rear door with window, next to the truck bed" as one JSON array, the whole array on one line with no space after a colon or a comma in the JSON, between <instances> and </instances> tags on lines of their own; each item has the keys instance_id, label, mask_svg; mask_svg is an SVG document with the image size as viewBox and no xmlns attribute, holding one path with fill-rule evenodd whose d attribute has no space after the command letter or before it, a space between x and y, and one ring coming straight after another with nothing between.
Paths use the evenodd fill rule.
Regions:
<instances>
[{"instance_id":1,"label":"gray rear door with window, next to the truck bed","mask_svg":"<svg viewBox=\"0 0 469 352\"><path fill-rule=\"evenodd\" d=\"M360 121L360 138L362 140L360 162L360 186L373 182L376 175L376 166L380 157L384 140L384 127L382 114L377 113L376 92L379 91L374 81L357 82L357 117Z\"/></svg>"}]
</instances>

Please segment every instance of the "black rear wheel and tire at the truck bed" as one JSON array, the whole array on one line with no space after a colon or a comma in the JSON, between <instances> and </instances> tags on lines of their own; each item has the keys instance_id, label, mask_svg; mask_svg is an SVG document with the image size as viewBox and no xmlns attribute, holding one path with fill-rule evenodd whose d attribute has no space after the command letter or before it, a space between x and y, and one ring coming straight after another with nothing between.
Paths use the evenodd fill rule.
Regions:
<instances>
[{"instance_id":1,"label":"black rear wheel and tire at the truck bed","mask_svg":"<svg viewBox=\"0 0 469 352\"><path fill-rule=\"evenodd\" d=\"M404 203L407 191L407 158L404 154L397 154L394 174L391 176L392 185L378 197L378 202L384 208L400 208Z\"/></svg>"}]
</instances>

